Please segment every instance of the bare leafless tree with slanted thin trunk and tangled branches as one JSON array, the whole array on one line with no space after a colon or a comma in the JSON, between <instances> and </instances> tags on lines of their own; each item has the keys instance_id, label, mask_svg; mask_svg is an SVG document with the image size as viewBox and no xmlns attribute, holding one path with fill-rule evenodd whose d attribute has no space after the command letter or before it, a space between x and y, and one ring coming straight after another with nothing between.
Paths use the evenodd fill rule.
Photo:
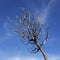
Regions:
<instances>
[{"instance_id":1,"label":"bare leafless tree with slanted thin trunk and tangled branches","mask_svg":"<svg viewBox=\"0 0 60 60\"><path fill-rule=\"evenodd\" d=\"M46 43L48 39L48 27L45 29L45 38L40 43L41 35L43 30L43 25L41 22L37 21L29 11L23 9L21 11L21 16L16 16L16 32L19 34L20 37L25 38L26 45L31 44L33 48L30 47L32 53L37 53L40 51L44 57L44 60L48 60L46 57L45 52L42 49L42 46Z\"/></svg>"}]
</instances>

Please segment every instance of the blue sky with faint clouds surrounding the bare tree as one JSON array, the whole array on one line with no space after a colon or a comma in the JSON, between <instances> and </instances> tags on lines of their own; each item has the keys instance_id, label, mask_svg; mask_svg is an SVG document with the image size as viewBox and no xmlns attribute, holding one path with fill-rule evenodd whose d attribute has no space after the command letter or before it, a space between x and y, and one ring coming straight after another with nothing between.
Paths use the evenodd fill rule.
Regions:
<instances>
[{"instance_id":1,"label":"blue sky with faint clouds surrounding the bare tree","mask_svg":"<svg viewBox=\"0 0 60 60\"><path fill-rule=\"evenodd\" d=\"M43 49L49 60L60 60L60 0L0 0L0 60L42 60L40 52L28 52L8 23L7 16L15 18L22 7L48 24L49 38Z\"/></svg>"}]
</instances>

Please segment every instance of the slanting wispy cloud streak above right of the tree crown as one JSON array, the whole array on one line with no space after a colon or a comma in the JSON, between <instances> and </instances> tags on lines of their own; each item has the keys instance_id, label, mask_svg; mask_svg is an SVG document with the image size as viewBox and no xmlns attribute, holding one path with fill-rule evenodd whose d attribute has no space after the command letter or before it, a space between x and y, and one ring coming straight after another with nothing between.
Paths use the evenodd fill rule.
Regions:
<instances>
[{"instance_id":1,"label":"slanting wispy cloud streak above right of the tree crown","mask_svg":"<svg viewBox=\"0 0 60 60\"><path fill-rule=\"evenodd\" d=\"M52 8L52 6L54 6L54 4L55 4L55 0L50 0L48 2L48 5L46 7L44 7L42 9L42 11L40 12L40 14L38 16L38 21L40 21L42 24L46 23L46 19L49 16L50 9Z\"/></svg>"}]
</instances>

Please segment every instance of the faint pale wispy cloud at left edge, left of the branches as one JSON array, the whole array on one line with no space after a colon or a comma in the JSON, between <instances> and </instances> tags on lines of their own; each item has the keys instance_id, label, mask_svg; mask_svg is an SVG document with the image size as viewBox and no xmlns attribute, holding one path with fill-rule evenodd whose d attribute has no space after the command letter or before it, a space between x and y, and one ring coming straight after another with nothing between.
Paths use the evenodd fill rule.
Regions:
<instances>
[{"instance_id":1,"label":"faint pale wispy cloud at left edge, left of the branches","mask_svg":"<svg viewBox=\"0 0 60 60\"><path fill-rule=\"evenodd\" d=\"M2 27L4 32L2 32L0 36L0 43L9 40L12 37L12 33L8 29L8 23L4 22Z\"/></svg>"}]
</instances>

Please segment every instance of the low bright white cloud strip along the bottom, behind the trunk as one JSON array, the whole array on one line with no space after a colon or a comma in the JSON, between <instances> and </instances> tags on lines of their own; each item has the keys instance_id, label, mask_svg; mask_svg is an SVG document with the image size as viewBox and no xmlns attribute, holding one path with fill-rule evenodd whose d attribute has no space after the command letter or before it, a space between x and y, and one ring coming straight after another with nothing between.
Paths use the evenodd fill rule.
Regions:
<instances>
[{"instance_id":1,"label":"low bright white cloud strip along the bottom, behind the trunk","mask_svg":"<svg viewBox=\"0 0 60 60\"><path fill-rule=\"evenodd\" d=\"M9 57L6 60L44 60L41 57ZM50 55L48 60L60 60L60 55Z\"/></svg>"}]
</instances>

